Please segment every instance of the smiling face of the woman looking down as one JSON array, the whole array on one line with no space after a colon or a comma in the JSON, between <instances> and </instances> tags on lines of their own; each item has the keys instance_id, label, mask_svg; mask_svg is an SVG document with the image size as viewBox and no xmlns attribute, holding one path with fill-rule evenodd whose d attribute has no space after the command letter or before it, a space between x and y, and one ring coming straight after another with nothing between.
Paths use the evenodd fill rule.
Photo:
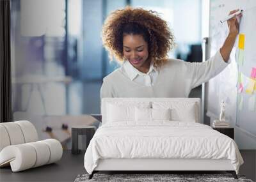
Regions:
<instances>
[{"instance_id":1,"label":"smiling face of the woman looking down","mask_svg":"<svg viewBox=\"0 0 256 182\"><path fill-rule=\"evenodd\" d=\"M148 60L148 43L140 34L124 34L124 57L132 66L143 73L147 73L150 66Z\"/></svg>"}]
</instances>

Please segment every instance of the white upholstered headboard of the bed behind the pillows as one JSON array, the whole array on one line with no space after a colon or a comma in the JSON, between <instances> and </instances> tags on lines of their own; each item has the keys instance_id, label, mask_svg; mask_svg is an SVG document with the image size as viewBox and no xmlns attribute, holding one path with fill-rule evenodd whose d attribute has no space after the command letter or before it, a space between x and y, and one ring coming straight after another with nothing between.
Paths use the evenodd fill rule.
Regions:
<instances>
[{"instance_id":1,"label":"white upholstered headboard of the bed behind the pillows","mask_svg":"<svg viewBox=\"0 0 256 182\"><path fill-rule=\"evenodd\" d=\"M173 103L173 105L177 104L195 104L195 114L196 114L196 123L200 123L200 98L102 98L101 102L101 114L102 114L102 124L106 123L106 113L107 113L107 105L108 103L120 103L120 104L129 104L129 103L142 103L148 102L150 103L150 107L152 108L152 104L157 103ZM184 113L186 114L186 113Z\"/></svg>"}]
</instances>

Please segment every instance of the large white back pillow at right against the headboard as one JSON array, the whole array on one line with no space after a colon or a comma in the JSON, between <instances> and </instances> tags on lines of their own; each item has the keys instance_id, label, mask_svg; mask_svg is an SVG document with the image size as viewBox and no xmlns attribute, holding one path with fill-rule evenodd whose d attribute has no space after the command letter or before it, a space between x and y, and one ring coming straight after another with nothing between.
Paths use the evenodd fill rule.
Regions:
<instances>
[{"instance_id":1,"label":"large white back pillow at right against the headboard","mask_svg":"<svg viewBox=\"0 0 256 182\"><path fill-rule=\"evenodd\" d=\"M195 102L152 102L154 109L171 109L172 121L199 122L198 107Z\"/></svg>"}]
</instances>

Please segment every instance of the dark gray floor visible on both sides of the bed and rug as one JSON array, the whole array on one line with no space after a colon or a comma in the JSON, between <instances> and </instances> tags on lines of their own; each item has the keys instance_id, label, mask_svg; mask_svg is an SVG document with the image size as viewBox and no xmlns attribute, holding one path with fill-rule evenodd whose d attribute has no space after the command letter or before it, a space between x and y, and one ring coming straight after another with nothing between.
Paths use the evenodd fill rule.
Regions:
<instances>
[{"instance_id":1,"label":"dark gray floor visible on both sides of the bed and rug","mask_svg":"<svg viewBox=\"0 0 256 182\"><path fill-rule=\"evenodd\" d=\"M256 180L256 150L241 150L244 164L239 174ZM0 169L0 181L74 181L78 174L86 173L83 165L84 152L72 155L70 150L63 151L63 157L57 163L44 165L22 172L12 172L10 167Z\"/></svg>"}]
</instances>

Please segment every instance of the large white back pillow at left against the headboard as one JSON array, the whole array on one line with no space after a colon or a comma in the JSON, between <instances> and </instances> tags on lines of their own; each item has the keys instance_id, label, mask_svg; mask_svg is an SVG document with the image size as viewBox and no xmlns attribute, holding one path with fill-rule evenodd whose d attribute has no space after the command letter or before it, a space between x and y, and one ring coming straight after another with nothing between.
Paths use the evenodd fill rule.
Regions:
<instances>
[{"instance_id":1,"label":"large white back pillow at left against the headboard","mask_svg":"<svg viewBox=\"0 0 256 182\"><path fill-rule=\"evenodd\" d=\"M108 103L106 120L107 122L135 121L135 107L149 108L150 103L135 103L133 105Z\"/></svg>"}]
</instances>

